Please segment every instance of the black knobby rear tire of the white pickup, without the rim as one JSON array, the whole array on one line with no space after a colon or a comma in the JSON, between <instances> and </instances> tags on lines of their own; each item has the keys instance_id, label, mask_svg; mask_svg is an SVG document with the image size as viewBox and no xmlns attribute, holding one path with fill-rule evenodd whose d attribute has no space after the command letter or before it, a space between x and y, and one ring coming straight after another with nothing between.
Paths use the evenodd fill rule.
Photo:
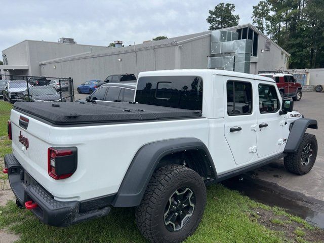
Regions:
<instances>
[{"instance_id":1,"label":"black knobby rear tire of the white pickup, without the rim","mask_svg":"<svg viewBox=\"0 0 324 243\"><path fill-rule=\"evenodd\" d=\"M183 228L171 232L165 224L165 209L173 193L184 187L194 193L195 207ZM181 242L197 228L205 205L206 187L203 179L187 167L168 165L156 169L152 175L141 204L136 208L136 224L150 242Z\"/></svg>"}]
</instances>

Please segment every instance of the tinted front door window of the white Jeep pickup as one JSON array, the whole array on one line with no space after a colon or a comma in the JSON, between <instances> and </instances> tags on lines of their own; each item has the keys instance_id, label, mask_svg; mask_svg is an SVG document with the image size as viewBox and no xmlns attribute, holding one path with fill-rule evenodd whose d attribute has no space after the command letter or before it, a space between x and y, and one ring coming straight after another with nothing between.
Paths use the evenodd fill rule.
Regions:
<instances>
[{"instance_id":1,"label":"tinted front door window of the white Jeep pickup","mask_svg":"<svg viewBox=\"0 0 324 243\"><path fill-rule=\"evenodd\" d=\"M259 85L259 108L260 113L272 113L279 110L279 99L274 86Z\"/></svg>"}]
</instances>

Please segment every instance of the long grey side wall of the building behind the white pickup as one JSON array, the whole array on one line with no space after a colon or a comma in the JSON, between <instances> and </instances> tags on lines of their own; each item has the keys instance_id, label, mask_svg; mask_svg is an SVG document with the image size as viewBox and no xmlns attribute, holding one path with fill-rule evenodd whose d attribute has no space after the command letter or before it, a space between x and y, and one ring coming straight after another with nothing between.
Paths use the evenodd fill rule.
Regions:
<instances>
[{"instance_id":1,"label":"long grey side wall of the building behind the white pickup","mask_svg":"<svg viewBox=\"0 0 324 243\"><path fill-rule=\"evenodd\" d=\"M41 65L44 76L72 77L74 86L90 79L103 80L108 75L167 69L207 68L210 55L210 36L181 44L130 51L101 57L50 62ZM121 61L118 61L118 59ZM53 68L55 66L56 68Z\"/></svg>"}]
</instances>

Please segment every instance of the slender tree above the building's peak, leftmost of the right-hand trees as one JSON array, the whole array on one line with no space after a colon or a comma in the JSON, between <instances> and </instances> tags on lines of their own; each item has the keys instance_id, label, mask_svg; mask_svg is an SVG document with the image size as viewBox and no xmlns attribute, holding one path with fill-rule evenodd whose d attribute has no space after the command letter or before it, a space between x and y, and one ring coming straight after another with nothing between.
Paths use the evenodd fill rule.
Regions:
<instances>
[{"instance_id":1,"label":"slender tree above the building's peak, leftmost of the right-hand trees","mask_svg":"<svg viewBox=\"0 0 324 243\"><path fill-rule=\"evenodd\" d=\"M252 23L255 24L258 30L265 33L266 25L270 19L270 5L267 1L261 1L258 5L253 6Z\"/></svg>"}]
</instances>

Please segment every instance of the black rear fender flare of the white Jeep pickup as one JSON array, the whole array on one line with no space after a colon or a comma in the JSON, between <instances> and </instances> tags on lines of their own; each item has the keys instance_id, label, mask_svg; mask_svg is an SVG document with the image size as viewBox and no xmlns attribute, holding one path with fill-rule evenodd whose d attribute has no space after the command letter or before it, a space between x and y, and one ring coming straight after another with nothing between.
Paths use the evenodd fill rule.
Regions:
<instances>
[{"instance_id":1,"label":"black rear fender flare of the white Jeep pickup","mask_svg":"<svg viewBox=\"0 0 324 243\"><path fill-rule=\"evenodd\" d=\"M216 169L207 146L197 138L177 138L143 145L135 154L118 192L112 202L113 207L135 207L141 203L149 180L159 161L164 156L184 150L204 150L215 177Z\"/></svg>"}]
</instances>

